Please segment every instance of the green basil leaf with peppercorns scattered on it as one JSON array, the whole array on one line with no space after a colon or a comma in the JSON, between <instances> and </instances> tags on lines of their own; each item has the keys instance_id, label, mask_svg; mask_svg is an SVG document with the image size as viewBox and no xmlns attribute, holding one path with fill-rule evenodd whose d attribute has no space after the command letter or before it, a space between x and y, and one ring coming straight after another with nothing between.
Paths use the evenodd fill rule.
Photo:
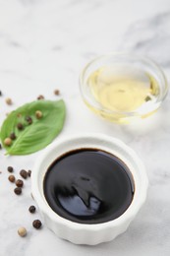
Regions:
<instances>
[{"instance_id":1,"label":"green basil leaf with peppercorns scattered on it","mask_svg":"<svg viewBox=\"0 0 170 256\"><path fill-rule=\"evenodd\" d=\"M41 111L42 117L37 119L35 111ZM0 138L3 147L9 155L28 155L39 151L50 144L63 128L66 115L64 101L36 100L12 111L1 127ZM26 117L32 118L28 124ZM17 124L22 123L24 130L19 130ZM4 140L14 132L16 140L11 146L6 146Z\"/></svg>"}]
</instances>

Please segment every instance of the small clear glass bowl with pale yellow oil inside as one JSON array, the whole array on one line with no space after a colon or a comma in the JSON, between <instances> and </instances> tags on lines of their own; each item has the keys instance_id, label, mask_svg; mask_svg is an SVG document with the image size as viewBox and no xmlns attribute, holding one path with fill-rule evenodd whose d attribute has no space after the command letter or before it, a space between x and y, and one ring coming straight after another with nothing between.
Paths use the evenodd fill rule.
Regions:
<instances>
[{"instance_id":1,"label":"small clear glass bowl with pale yellow oil inside","mask_svg":"<svg viewBox=\"0 0 170 256\"><path fill-rule=\"evenodd\" d=\"M168 92L160 67L130 53L103 55L89 62L81 74L80 88L93 112L117 123L149 116Z\"/></svg>"}]
</instances>

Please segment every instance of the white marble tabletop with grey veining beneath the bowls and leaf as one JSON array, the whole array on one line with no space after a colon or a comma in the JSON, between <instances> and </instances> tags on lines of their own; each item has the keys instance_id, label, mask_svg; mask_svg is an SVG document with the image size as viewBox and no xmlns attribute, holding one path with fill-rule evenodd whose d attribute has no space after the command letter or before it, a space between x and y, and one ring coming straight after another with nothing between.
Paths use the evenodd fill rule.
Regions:
<instances>
[{"instance_id":1,"label":"white marble tabletop with grey veining beneath the bowls and leaf","mask_svg":"<svg viewBox=\"0 0 170 256\"><path fill-rule=\"evenodd\" d=\"M79 93L79 74L98 54L132 50L154 58L170 72L169 0L0 0L0 122L6 112L38 95L55 99L60 89L67 119L60 137L102 132L123 140L147 167L146 204L128 230L114 241L94 247L57 238L45 226L31 227L30 180L17 197L6 167L15 174L32 167L39 153L5 157L0 151L1 256L169 256L170 255L170 96L161 109L141 123L118 126L92 114ZM5 103L10 96L12 106ZM57 139L56 139L57 140ZM28 236L17 234L20 225Z\"/></svg>"}]
</instances>

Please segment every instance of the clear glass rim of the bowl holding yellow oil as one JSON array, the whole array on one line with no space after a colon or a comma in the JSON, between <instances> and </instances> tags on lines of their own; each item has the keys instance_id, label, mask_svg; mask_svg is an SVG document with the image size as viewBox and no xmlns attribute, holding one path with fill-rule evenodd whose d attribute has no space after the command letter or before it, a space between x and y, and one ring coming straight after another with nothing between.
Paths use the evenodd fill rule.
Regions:
<instances>
[{"instance_id":1,"label":"clear glass rim of the bowl holding yellow oil","mask_svg":"<svg viewBox=\"0 0 170 256\"><path fill-rule=\"evenodd\" d=\"M157 103L161 103L163 101L163 99L167 96L168 94L168 90L169 90L169 85L168 85L168 81L167 78L165 76L165 73L163 72L163 70L161 69L161 67L154 61L152 60L150 57L147 56L140 56L138 54L132 53L132 52L124 52L124 51L117 51L117 52L110 52L107 54L103 54L103 55L99 55L95 58L93 58L91 61L89 61L85 67L83 68L80 77L79 77L79 85L80 85L80 92L81 95L83 97L83 99L85 100L85 103L89 104L90 106L92 106L94 109L97 109L99 111L102 111L106 114L117 114L117 115L125 115L126 117L132 117L132 116L139 116L139 112L138 110L133 110L133 111L116 111L116 110L109 110L106 107L100 106L96 103L95 100L92 100L92 98L90 98L89 96L87 96L85 94L85 90L84 90L84 77L85 77L85 72L86 70L90 67L90 65L92 65L93 63L97 63L98 61L104 60L104 59L108 59L109 57L121 57L121 56L127 56L127 57L133 57L139 61L142 61L143 63L145 62L146 64L149 64L150 66L154 67L155 70L157 70L157 73L160 74L160 76L162 77L163 83L164 83L164 90L163 90L163 94L161 97L159 97L159 99L154 102L152 105L155 105L155 109L157 108L156 105ZM154 109L152 109L152 111L154 111ZM150 111L148 111L149 113ZM144 113L144 115L147 114L147 112Z\"/></svg>"}]
</instances>

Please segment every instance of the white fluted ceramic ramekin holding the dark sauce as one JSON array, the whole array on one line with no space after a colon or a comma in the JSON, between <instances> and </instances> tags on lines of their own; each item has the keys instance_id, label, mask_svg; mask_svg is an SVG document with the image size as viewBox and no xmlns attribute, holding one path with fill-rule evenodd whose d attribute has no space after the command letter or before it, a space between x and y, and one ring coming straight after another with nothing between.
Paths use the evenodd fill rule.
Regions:
<instances>
[{"instance_id":1,"label":"white fluted ceramic ramekin holding the dark sauce","mask_svg":"<svg viewBox=\"0 0 170 256\"><path fill-rule=\"evenodd\" d=\"M106 151L123 160L132 172L135 194L130 207L119 218L103 224L78 224L57 215L48 205L43 193L43 179L48 166L66 152L81 148ZM114 239L134 220L146 198L147 176L142 160L118 139L103 134L85 134L57 140L36 160L31 174L32 195L44 223L59 237L76 244L94 245Z\"/></svg>"}]
</instances>

